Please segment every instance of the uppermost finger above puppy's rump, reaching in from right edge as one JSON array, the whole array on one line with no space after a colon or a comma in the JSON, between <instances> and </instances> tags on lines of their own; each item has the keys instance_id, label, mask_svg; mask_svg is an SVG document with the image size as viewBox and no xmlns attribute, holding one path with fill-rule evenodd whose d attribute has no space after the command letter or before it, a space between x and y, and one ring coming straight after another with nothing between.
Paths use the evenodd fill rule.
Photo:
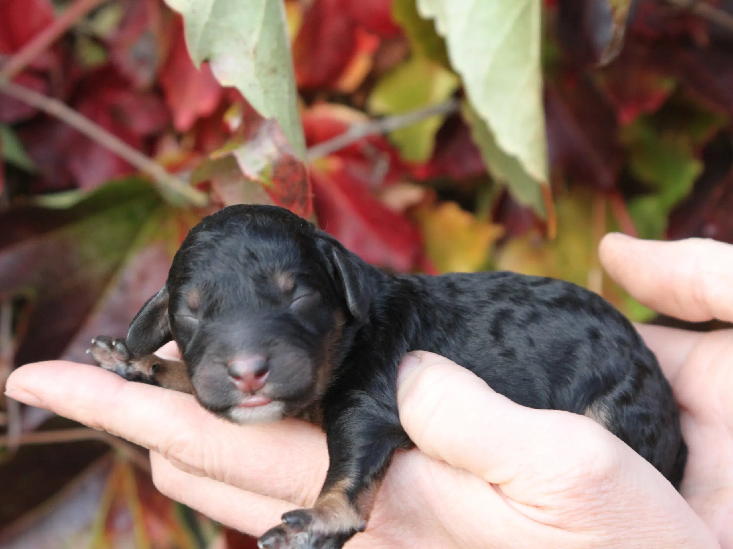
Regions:
<instances>
[{"instance_id":1,"label":"uppermost finger above puppy's rump, reaching in from right edge","mask_svg":"<svg viewBox=\"0 0 733 549\"><path fill-rule=\"evenodd\" d=\"M733 246L607 234L600 260L611 277L654 310L687 321L733 321Z\"/></svg>"}]
</instances>

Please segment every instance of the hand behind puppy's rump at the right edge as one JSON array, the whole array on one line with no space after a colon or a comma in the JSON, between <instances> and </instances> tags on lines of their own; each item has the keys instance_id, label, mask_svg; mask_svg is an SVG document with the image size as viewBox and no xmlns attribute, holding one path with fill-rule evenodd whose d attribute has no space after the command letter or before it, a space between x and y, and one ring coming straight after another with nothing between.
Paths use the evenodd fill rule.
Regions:
<instances>
[{"instance_id":1,"label":"hand behind puppy's rump at the right edge","mask_svg":"<svg viewBox=\"0 0 733 549\"><path fill-rule=\"evenodd\" d=\"M733 246L712 240L649 242L608 235L608 273L640 302L686 321L733 322ZM690 448L681 492L723 549L733 548L733 329L688 332L636 326L681 408Z\"/></svg>"}]
</instances>

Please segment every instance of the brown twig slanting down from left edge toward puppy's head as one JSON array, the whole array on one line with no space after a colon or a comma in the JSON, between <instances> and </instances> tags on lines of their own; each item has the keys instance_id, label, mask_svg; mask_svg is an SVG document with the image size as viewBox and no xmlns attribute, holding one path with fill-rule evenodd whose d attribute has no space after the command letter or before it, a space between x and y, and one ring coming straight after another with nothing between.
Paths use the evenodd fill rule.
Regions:
<instances>
[{"instance_id":1,"label":"brown twig slanting down from left edge toward puppy's head","mask_svg":"<svg viewBox=\"0 0 733 549\"><path fill-rule=\"evenodd\" d=\"M0 81L0 93L32 105L51 116L56 116L56 118L75 128L75 130L97 141L97 143L105 146L140 171L147 173L158 184L161 192L168 195L172 200L183 197L185 201L194 206L206 206L208 198L204 193L194 189L194 187L181 181L171 173L168 173L162 165L151 160L136 149L133 149L125 141L117 138L116 135L112 135L103 127L95 124L95 122L92 122L81 113L74 111L73 108L68 107L63 102L52 97L46 97L44 94L40 94L37 91L16 83L3 83Z\"/></svg>"}]
</instances>

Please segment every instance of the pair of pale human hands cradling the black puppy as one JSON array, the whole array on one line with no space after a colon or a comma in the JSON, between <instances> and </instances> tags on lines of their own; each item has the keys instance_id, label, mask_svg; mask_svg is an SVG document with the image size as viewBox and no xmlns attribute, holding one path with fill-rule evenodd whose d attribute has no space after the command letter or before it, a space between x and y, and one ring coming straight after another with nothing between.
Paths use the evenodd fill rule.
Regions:
<instances>
[{"instance_id":1,"label":"pair of pale human hands cradling the black puppy","mask_svg":"<svg viewBox=\"0 0 733 549\"><path fill-rule=\"evenodd\" d=\"M733 321L733 246L614 234L600 257L655 310ZM400 419L418 448L395 456L367 531L346 548L733 549L733 330L638 329L682 408L681 494L592 420L523 408L419 352L398 382ZM232 425L189 395L98 367L26 365L7 394L150 449L163 493L254 536L312 504L328 466L316 427Z\"/></svg>"}]
</instances>

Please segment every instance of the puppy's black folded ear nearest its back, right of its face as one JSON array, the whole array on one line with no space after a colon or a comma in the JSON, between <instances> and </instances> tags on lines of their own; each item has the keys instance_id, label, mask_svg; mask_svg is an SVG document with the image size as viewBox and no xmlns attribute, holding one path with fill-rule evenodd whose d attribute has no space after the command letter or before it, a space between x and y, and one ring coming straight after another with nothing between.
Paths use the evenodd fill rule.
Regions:
<instances>
[{"instance_id":1,"label":"puppy's black folded ear nearest its back, right of its face","mask_svg":"<svg viewBox=\"0 0 733 549\"><path fill-rule=\"evenodd\" d=\"M331 236L322 234L317 240L326 260L328 274L336 287L343 291L349 312L354 320L367 320L372 303L372 288L361 261Z\"/></svg>"}]
</instances>

